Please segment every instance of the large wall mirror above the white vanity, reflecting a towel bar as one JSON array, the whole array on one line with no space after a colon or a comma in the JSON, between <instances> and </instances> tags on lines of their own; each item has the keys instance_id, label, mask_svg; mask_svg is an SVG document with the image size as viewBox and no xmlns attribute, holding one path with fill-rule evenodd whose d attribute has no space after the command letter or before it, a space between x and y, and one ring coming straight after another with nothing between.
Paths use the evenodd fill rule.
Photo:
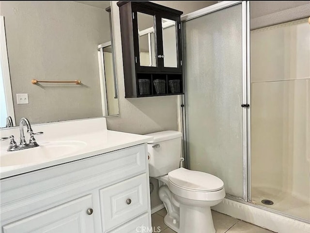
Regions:
<instances>
[{"instance_id":1,"label":"large wall mirror above the white vanity, reflecting a towel bar","mask_svg":"<svg viewBox=\"0 0 310 233\"><path fill-rule=\"evenodd\" d=\"M0 1L0 127L12 115L17 126L21 117L38 124L119 114L108 7L110 1Z\"/></svg>"}]
</instances>

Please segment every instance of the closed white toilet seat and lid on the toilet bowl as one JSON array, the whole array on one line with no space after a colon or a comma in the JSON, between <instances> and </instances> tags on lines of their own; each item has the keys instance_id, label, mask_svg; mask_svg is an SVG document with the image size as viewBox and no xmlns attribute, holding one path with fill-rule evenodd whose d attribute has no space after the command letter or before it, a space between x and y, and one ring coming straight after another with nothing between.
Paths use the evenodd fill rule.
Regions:
<instances>
[{"instance_id":1,"label":"closed white toilet seat and lid on the toilet bowl","mask_svg":"<svg viewBox=\"0 0 310 233\"><path fill-rule=\"evenodd\" d=\"M224 187L223 181L214 175L183 167L169 172L168 179L174 186L188 191L214 192Z\"/></svg>"}]
</instances>

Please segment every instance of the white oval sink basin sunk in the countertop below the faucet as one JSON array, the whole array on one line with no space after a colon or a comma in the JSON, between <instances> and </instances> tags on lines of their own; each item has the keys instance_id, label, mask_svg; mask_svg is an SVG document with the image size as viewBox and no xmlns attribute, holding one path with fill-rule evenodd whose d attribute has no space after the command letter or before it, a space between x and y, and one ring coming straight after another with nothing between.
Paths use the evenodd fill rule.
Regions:
<instances>
[{"instance_id":1,"label":"white oval sink basin sunk in the countertop below the faucet","mask_svg":"<svg viewBox=\"0 0 310 233\"><path fill-rule=\"evenodd\" d=\"M46 141L38 142L39 147L6 151L1 147L0 166L17 166L27 164L39 164L58 158L68 157L72 153L86 147L82 141Z\"/></svg>"}]
</instances>

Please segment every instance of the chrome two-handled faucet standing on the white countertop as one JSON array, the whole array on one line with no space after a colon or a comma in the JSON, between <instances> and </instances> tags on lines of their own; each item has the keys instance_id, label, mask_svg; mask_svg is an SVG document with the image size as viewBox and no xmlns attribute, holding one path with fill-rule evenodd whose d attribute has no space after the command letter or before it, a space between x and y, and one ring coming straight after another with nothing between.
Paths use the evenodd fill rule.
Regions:
<instances>
[{"instance_id":1,"label":"chrome two-handled faucet standing on the white countertop","mask_svg":"<svg viewBox=\"0 0 310 233\"><path fill-rule=\"evenodd\" d=\"M24 124L26 124L27 126L27 133L30 134L29 143L27 143L25 140ZM22 117L19 121L19 133L20 133L20 144L19 145L16 144L13 135L11 135L10 137L1 137L0 141L11 139L10 146L7 151L23 150L23 149L38 147L39 144L35 141L34 135L43 134L43 132L33 133L31 124L29 120L25 117Z\"/></svg>"}]
</instances>

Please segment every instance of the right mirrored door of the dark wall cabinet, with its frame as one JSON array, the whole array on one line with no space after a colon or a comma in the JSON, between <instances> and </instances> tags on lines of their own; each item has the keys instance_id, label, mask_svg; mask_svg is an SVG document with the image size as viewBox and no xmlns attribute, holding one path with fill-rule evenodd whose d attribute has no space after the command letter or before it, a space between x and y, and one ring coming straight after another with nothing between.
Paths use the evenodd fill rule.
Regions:
<instances>
[{"instance_id":1,"label":"right mirrored door of the dark wall cabinet, with its frame","mask_svg":"<svg viewBox=\"0 0 310 233\"><path fill-rule=\"evenodd\" d=\"M181 22L180 17L160 12L156 14L158 56L161 71L182 72Z\"/></svg>"}]
</instances>

